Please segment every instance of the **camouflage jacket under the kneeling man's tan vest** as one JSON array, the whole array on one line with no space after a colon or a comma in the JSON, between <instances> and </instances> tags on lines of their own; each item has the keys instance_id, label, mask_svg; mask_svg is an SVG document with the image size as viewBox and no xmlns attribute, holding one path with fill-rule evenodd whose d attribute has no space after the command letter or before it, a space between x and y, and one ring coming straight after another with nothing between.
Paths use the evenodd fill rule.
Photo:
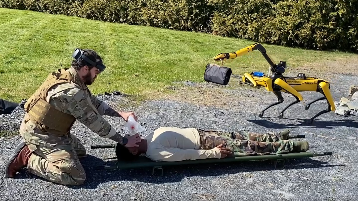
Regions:
<instances>
[{"instance_id":1,"label":"camouflage jacket under the kneeling man's tan vest","mask_svg":"<svg viewBox=\"0 0 358 201\"><path fill-rule=\"evenodd\" d=\"M92 95L88 87L78 79L73 67L67 71L76 77L75 81L53 86L48 91L46 101L55 109L73 115L76 120L100 137L110 138L115 135L115 129L102 117L108 105ZM59 135L39 127L29 120L29 115L26 113L20 126L20 135L24 140L36 145L52 147L57 144L72 143L66 135Z\"/></svg>"}]
</instances>

